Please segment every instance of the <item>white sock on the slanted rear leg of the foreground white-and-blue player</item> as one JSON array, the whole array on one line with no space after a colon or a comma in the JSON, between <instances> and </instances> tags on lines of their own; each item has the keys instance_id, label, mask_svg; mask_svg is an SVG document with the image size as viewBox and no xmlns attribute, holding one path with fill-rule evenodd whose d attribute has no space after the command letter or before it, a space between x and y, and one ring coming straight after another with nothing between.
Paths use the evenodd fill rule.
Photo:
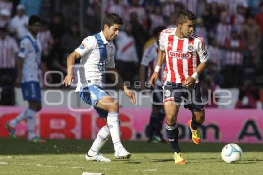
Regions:
<instances>
[{"instance_id":1,"label":"white sock on the slanted rear leg of the foreground white-and-blue player","mask_svg":"<svg viewBox=\"0 0 263 175\"><path fill-rule=\"evenodd\" d=\"M96 156L103 145L107 142L110 137L110 130L107 125L103 126L98 132L96 139L94 140L91 148L88 151L89 156Z\"/></svg>"}]
</instances>

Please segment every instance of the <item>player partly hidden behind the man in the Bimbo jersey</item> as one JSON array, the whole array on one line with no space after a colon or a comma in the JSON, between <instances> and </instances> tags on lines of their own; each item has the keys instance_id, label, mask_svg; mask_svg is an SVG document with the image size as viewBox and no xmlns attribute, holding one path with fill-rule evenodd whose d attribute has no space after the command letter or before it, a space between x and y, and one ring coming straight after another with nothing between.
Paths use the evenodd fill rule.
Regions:
<instances>
[{"instance_id":1,"label":"player partly hidden behind the man in the Bimbo jersey","mask_svg":"<svg viewBox=\"0 0 263 175\"><path fill-rule=\"evenodd\" d=\"M156 38L156 42L145 49L145 52L142 57L141 65L140 65L140 82L141 82L141 90L147 89L145 86L145 70L148 67L147 77L150 79L151 75L154 72L154 67L157 64L158 52L159 52L159 36L162 30L166 29L164 26L158 26L157 28L153 29L153 34ZM165 117L164 108L163 108L163 92L162 92L162 85L163 85L163 70L164 66L162 66L162 70L160 71L159 78L157 79L156 87L152 87L151 90L153 93L151 100L152 100L152 113L150 117L149 127L146 129L146 135L149 137L149 143L161 143L164 142L162 137L162 124L163 119ZM149 80L148 80L149 81Z\"/></svg>"}]
</instances>

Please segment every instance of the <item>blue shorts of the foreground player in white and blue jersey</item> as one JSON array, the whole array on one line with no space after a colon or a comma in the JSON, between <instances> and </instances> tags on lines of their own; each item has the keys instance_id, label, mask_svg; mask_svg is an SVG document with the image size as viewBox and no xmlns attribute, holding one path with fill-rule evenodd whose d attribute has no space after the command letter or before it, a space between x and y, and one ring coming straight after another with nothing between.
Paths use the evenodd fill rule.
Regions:
<instances>
[{"instance_id":1,"label":"blue shorts of the foreground player in white and blue jersey","mask_svg":"<svg viewBox=\"0 0 263 175\"><path fill-rule=\"evenodd\" d=\"M103 87L95 84L83 88L80 92L80 98L87 104L92 105L99 114L99 117L108 117L108 112L97 107L97 102L104 96L109 95Z\"/></svg>"}]
</instances>

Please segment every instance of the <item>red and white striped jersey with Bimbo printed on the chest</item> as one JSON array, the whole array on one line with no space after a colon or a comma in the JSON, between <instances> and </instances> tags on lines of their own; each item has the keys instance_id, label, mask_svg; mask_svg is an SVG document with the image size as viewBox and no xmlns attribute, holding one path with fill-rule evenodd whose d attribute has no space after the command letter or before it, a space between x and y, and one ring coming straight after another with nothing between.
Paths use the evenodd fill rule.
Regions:
<instances>
[{"instance_id":1,"label":"red and white striped jersey with Bimbo printed on the chest","mask_svg":"<svg viewBox=\"0 0 263 175\"><path fill-rule=\"evenodd\" d=\"M165 29L159 38L160 49L166 53L167 75L164 80L184 83L185 78L196 71L199 62L207 62L209 54L202 36L193 32L190 37L180 39L175 31L176 28Z\"/></svg>"}]
</instances>

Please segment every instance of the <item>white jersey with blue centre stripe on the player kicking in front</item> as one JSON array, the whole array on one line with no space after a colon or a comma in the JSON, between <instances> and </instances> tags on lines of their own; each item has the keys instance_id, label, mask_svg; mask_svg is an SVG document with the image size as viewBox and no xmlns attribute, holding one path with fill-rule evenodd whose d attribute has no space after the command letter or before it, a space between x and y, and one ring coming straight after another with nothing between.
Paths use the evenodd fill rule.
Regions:
<instances>
[{"instance_id":1,"label":"white jersey with blue centre stripe on the player kicking in front","mask_svg":"<svg viewBox=\"0 0 263 175\"><path fill-rule=\"evenodd\" d=\"M103 32L85 38L75 50L81 55L76 92L91 84L102 85L106 67L114 68L115 46L107 41Z\"/></svg>"}]
</instances>

